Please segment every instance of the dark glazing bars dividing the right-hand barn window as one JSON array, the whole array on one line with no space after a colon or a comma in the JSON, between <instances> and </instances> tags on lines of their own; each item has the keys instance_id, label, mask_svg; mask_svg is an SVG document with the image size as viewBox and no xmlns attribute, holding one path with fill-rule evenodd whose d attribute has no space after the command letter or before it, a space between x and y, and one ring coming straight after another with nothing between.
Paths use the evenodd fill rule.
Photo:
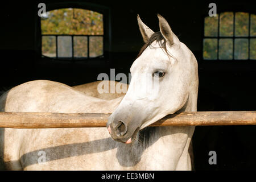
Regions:
<instances>
[{"instance_id":1,"label":"dark glazing bars dividing the right-hand barn window","mask_svg":"<svg viewBox=\"0 0 256 182\"><path fill-rule=\"evenodd\" d=\"M230 11L227 11L227 12L230 12ZM224 12L225 13L225 12ZM219 46L220 46L220 39L233 39L233 53L232 53L232 56L233 56L233 59L230 59L230 60L235 60L234 59L234 42L235 42L235 39L247 39L248 40L248 59L247 60L250 60L250 39L251 38L256 38L256 36L251 36L250 35L250 25L251 25L251 13L249 13L249 26L248 26L248 36L235 36L235 28L236 28L236 13L238 12L232 12L233 13L233 36L220 36L220 14L217 14L218 15L218 28L217 28L217 36L204 36L204 39L217 39L217 59L216 60L220 60L219 59ZM205 19L204 19L205 20ZM205 28L205 22L204 22L204 28ZM205 34L205 32L204 32ZM204 40L203 39L203 40ZM210 60L210 59L205 59L205 60ZM246 60L246 59L243 59L243 60Z\"/></svg>"}]
</instances>

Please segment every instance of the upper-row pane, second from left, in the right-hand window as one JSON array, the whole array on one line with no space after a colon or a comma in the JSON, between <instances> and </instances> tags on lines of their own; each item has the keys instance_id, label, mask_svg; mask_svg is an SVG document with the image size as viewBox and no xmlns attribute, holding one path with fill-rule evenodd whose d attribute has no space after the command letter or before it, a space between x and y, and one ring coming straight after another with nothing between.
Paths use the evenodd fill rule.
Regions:
<instances>
[{"instance_id":1,"label":"upper-row pane, second from left, in the right-hand window","mask_svg":"<svg viewBox=\"0 0 256 182\"><path fill-rule=\"evenodd\" d=\"M233 36L233 17L232 12L220 14L220 36Z\"/></svg>"}]
</instances>

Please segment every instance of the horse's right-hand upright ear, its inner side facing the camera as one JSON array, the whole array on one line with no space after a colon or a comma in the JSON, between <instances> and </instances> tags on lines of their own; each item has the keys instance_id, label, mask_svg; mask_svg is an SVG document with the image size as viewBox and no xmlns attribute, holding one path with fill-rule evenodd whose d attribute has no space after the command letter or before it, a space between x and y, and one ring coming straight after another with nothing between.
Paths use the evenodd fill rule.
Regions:
<instances>
[{"instance_id":1,"label":"horse's right-hand upright ear, its inner side facing the camera","mask_svg":"<svg viewBox=\"0 0 256 182\"><path fill-rule=\"evenodd\" d=\"M174 46L176 44L177 46L180 45L180 40L177 38L177 36L172 32L171 27L169 26L166 19L163 18L163 16L158 14L159 19L159 27L160 32L163 35L164 39L167 40L167 43L169 46Z\"/></svg>"}]
</instances>

